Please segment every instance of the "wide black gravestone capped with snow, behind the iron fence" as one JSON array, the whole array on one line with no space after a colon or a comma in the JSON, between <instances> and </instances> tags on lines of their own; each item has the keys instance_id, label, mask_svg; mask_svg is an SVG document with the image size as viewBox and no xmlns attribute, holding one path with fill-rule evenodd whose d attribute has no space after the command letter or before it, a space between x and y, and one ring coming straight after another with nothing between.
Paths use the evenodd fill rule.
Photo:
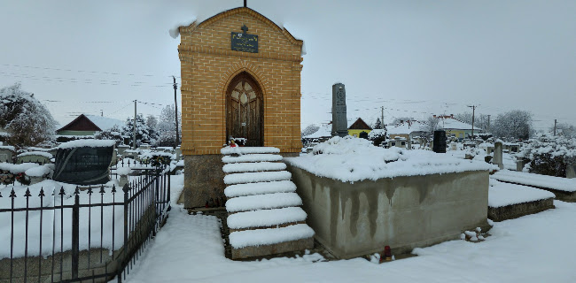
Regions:
<instances>
[{"instance_id":1,"label":"wide black gravestone capped with snow, behind the iron fence","mask_svg":"<svg viewBox=\"0 0 576 283\"><path fill-rule=\"evenodd\" d=\"M52 179L76 185L105 184L110 180L114 143L102 140L61 144Z\"/></svg>"}]
</instances>

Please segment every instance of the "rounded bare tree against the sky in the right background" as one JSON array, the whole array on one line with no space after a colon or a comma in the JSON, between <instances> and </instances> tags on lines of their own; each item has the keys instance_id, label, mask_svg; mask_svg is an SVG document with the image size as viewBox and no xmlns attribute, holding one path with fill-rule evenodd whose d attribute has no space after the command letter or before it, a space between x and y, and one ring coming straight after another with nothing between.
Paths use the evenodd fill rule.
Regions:
<instances>
[{"instance_id":1,"label":"rounded bare tree against the sky in the right background","mask_svg":"<svg viewBox=\"0 0 576 283\"><path fill-rule=\"evenodd\" d=\"M491 129L500 138L527 140L533 132L532 113L514 110L499 114Z\"/></svg>"}]
</instances>

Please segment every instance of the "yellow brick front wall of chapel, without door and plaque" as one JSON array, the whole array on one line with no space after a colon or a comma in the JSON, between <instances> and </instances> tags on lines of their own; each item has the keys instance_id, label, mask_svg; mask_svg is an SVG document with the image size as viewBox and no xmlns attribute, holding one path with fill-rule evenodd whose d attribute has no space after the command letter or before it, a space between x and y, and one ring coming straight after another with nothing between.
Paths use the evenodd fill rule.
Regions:
<instances>
[{"instance_id":1,"label":"yellow brick front wall of chapel, without door and plaque","mask_svg":"<svg viewBox=\"0 0 576 283\"><path fill-rule=\"evenodd\" d=\"M241 33L243 25L258 35L258 53L231 50L230 32ZM300 152L300 40L249 8L180 27L180 35L184 155L220 154L226 142L226 89L242 72L262 90L264 146Z\"/></svg>"}]
</instances>

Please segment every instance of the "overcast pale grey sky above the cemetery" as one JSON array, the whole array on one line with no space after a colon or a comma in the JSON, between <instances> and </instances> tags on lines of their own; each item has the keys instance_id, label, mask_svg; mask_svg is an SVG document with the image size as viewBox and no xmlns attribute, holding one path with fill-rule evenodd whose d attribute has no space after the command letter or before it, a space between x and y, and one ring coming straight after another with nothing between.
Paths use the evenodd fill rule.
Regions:
<instances>
[{"instance_id":1,"label":"overcast pale grey sky above the cemetery","mask_svg":"<svg viewBox=\"0 0 576 283\"><path fill-rule=\"evenodd\" d=\"M0 86L20 81L65 125L79 112L126 119L174 103L168 30L233 1L2 1ZM265 1L248 6L304 40L302 123L348 118L533 112L537 128L576 124L576 1ZM180 103L180 93L178 92ZM155 103L155 104L150 104Z\"/></svg>"}]
</instances>

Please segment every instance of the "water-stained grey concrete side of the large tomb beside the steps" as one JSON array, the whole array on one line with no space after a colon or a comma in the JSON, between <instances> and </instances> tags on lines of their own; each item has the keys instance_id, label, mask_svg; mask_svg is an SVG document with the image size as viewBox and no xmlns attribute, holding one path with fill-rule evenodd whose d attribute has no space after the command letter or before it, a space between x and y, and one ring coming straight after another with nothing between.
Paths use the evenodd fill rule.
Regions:
<instances>
[{"instance_id":1,"label":"water-stained grey concrete side of the large tomb beside the steps","mask_svg":"<svg viewBox=\"0 0 576 283\"><path fill-rule=\"evenodd\" d=\"M346 183L289 165L307 224L335 256L394 253L459 239L487 225L488 172L394 177Z\"/></svg>"}]
</instances>

